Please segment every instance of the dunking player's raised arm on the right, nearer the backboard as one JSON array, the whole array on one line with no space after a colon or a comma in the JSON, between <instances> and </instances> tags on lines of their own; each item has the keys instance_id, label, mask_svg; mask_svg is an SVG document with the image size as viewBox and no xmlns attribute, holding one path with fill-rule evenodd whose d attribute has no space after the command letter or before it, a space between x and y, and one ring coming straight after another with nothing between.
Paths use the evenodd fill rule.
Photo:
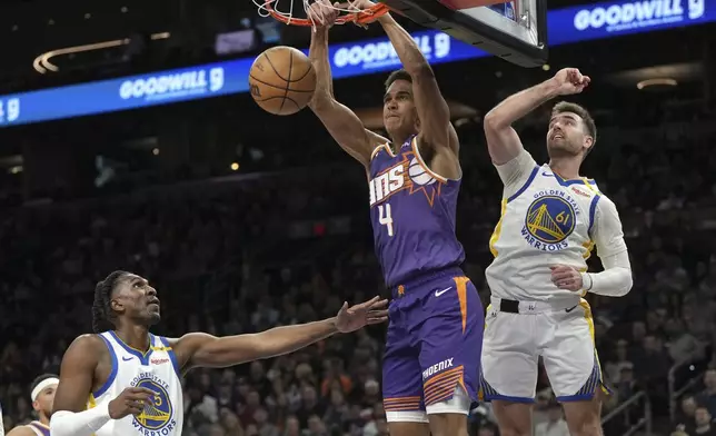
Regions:
<instances>
[{"instance_id":1,"label":"dunking player's raised arm on the right, nearer the backboard","mask_svg":"<svg viewBox=\"0 0 716 436\"><path fill-rule=\"evenodd\" d=\"M435 79L430 63L408 33L390 14L378 19L396 50L402 68L412 78L415 106L420 119L419 143L428 147L450 147L457 153L457 133L450 125L448 108Z\"/></svg>"}]
</instances>

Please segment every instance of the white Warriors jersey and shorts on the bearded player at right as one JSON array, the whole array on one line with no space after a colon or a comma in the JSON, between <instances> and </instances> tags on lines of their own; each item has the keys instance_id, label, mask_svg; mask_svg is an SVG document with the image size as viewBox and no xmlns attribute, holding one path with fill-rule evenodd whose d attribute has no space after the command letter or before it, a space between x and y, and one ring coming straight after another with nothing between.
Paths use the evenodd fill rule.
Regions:
<instances>
[{"instance_id":1,"label":"white Warriors jersey and shorts on the bearded player at right","mask_svg":"<svg viewBox=\"0 0 716 436\"><path fill-rule=\"evenodd\" d=\"M595 244L603 259L626 254L616 207L594 180L564 180L525 150L497 170L505 191L485 271L484 398L531 403L540 356L558 400L590 398L603 380L586 290L558 289L549 267L586 271Z\"/></svg>"}]
</instances>

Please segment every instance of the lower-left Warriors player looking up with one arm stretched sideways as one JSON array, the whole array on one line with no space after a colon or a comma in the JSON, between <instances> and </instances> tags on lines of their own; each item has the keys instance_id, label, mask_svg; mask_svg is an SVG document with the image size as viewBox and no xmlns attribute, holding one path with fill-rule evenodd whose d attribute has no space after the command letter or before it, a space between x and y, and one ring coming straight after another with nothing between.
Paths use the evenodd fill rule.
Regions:
<instances>
[{"instance_id":1,"label":"lower-left Warriors player looking up with one arm stretched sideways","mask_svg":"<svg viewBox=\"0 0 716 436\"><path fill-rule=\"evenodd\" d=\"M386 305L376 297L350 308L345 304L322 321L253 335L190 333L169 339L149 333L160 318L155 288L137 275L115 271L95 290L97 335L78 337L62 358L52 436L180 436L183 373L291 353L339 331L382 323Z\"/></svg>"}]
</instances>

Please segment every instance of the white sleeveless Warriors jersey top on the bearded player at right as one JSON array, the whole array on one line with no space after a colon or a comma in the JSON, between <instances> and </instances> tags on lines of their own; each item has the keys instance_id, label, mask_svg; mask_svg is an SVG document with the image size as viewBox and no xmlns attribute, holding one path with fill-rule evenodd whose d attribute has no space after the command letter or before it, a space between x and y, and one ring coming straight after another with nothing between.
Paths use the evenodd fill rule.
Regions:
<instances>
[{"instance_id":1,"label":"white sleeveless Warriors jersey top on the bearded player at right","mask_svg":"<svg viewBox=\"0 0 716 436\"><path fill-rule=\"evenodd\" d=\"M601 195L594 180L565 180L548 165L539 167L528 159L534 165L531 172L527 171L529 178L503 199L501 218L490 238L495 260L485 270L487 283L499 298L575 299L579 295L551 283L549 267L559 264L587 270L586 260L594 248L591 226Z\"/></svg>"}]
</instances>

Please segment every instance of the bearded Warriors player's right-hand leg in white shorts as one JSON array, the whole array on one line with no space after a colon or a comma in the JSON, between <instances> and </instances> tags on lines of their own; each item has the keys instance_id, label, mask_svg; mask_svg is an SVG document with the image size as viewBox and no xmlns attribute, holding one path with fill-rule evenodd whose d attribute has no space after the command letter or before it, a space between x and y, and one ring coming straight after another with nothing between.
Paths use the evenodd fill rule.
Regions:
<instances>
[{"instance_id":1,"label":"bearded Warriors player's right-hand leg in white shorts","mask_svg":"<svg viewBox=\"0 0 716 436\"><path fill-rule=\"evenodd\" d=\"M554 336L543 350L545 369L570 434L601 436L601 395L608 392L594 346L591 310L585 300L567 310L549 316Z\"/></svg>"}]
</instances>

